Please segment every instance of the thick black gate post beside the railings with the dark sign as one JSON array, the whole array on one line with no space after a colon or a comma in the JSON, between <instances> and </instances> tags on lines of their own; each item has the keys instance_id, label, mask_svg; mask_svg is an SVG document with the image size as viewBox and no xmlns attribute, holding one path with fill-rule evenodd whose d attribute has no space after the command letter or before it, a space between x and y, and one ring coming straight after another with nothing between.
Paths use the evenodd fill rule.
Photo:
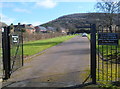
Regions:
<instances>
[{"instance_id":1,"label":"thick black gate post beside the railings with the dark sign","mask_svg":"<svg viewBox=\"0 0 120 89\"><path fill-rule=\"evenodd\" d=\"M91 78L92 83L96 84L96 25L91 25Z\"/></svg>"}]
</instances>

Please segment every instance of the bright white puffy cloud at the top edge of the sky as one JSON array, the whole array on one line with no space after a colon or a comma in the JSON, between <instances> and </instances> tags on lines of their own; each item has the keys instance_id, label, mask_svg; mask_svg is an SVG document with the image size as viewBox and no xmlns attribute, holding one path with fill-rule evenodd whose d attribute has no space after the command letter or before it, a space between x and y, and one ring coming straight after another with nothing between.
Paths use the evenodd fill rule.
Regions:
<instances>
[{"instance_id":1,"label":"bright white puffy cloud at the top edge of the sky","mask_svg":"<svg viewBox=\"0 0 120 89\"><path fill-rule=\"evenodd\" d=\"M36 6L45 7L45 8L54 8L57 5L53 0L44 0L36 2Z\"/></svg>"}]
</instances>

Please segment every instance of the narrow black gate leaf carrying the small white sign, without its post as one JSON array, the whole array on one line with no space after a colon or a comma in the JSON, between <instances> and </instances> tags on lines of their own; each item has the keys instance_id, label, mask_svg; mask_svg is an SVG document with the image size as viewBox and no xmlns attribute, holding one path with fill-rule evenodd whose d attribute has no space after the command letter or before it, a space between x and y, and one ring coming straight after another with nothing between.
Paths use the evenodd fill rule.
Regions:
<instances>
[{"instance_id":1,"label":"narrow black gate leaf carrying the small white sign, without its post","mask_svg":"<svg viewBox=\"0 0 120 89\"><path fill-rule=\"evenodd\" d=\"M14 72L23 65L22 33L10 33L10 59L11 72Z\"/></svg>"}]
</instances>

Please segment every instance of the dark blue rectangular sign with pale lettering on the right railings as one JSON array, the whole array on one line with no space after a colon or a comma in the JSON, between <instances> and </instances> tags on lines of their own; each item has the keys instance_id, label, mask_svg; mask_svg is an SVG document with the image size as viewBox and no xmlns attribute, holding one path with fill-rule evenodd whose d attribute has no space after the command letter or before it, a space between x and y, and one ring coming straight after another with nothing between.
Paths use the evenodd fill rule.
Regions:
<instances>
[{"instance_id":1,"label":"dark blue rectangular sign with pale lettering on the right railings","mask_svg":"<svg viewBox=\"0 0 120 89\"><path fill-rule=\"evenodd\" d=\"M98 45L118 45L118 34L98 33Z\"/></svg>"}]
</instances>

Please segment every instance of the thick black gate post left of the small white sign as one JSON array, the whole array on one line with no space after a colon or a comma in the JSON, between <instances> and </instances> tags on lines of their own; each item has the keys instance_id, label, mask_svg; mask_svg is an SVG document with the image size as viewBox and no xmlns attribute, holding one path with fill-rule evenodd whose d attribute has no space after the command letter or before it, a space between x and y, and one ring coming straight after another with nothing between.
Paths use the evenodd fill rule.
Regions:
<instances>
[{"instance_id":1,"label":"thick black gate post left of the small white sign","mask_svg":"<svg viewBox=\"0 0 120 89\"><path fill-rule=\"evenodd\" d=\"M4 31L2 32L2 47L3 47L3 70L4 70L4 78L10 78L10 27L4 27Z\"/></svg>"}]
</instances>

